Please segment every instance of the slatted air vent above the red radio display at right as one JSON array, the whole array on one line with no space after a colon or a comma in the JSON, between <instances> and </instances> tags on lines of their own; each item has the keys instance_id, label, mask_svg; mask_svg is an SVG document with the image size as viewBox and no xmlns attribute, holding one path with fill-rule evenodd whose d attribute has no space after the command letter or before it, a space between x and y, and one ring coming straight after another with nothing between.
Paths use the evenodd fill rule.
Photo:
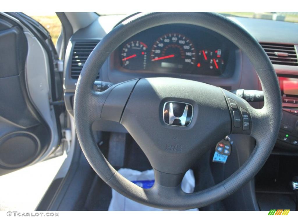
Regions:
<instances>
[{"instance_id":1,"label":"slatted air vent above the red radio display at right","mask_svg":"<svg viewBox=\"0 0 298 223\"><path fill-rule=\"evenodd\" d=\"M272 64L298 66L297 51L294 45L260 43Z\"/></svg>"}]
</instances>

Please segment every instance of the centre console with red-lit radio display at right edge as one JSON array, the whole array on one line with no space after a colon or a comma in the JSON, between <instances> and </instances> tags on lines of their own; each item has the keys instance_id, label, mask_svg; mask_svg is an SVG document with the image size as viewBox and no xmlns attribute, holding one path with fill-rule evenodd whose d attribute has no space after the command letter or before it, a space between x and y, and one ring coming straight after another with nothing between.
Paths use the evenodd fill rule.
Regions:
<instances>
[{"instance_id":1,"label":"centre console with red-lit radio display at right edge","mask_svg":"<svg viewBox=\"0 0 298 223\"><path fill-rule=\"evenodd\" d=\"M261 211L273 207L297 208L297 192L291 186L298 176L298 76L278 74L283 118L271 156L255 177L256 198Z\"/></svg>"}]
</instances>

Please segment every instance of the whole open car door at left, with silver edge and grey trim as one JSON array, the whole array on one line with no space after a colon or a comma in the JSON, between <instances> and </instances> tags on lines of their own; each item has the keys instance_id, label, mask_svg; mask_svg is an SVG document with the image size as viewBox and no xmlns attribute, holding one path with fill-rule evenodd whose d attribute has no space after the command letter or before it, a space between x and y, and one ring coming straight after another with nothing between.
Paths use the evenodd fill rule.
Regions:
<instances>
[{"instance_id":1,"label":"whole open car door at left, with silver edge and grey trim","mask_svg":"<svg viewBox=\"0 0 298 223\"><path fill-rule=\"evenodd\" d=\"M59 65L46 29L0 13L0 175L63 153Z\"/></svg>"}]
</instances>

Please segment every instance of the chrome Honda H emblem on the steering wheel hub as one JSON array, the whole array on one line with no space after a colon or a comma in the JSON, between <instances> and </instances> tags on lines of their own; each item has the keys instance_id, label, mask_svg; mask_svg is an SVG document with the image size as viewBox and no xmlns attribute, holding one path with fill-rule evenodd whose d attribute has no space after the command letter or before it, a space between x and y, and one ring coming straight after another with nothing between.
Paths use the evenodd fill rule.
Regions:
<instances>
[{"instance_id":1,"label":"chrome Honda H emblem on the steering wheel hub","mask_svg":"<svg viewBox=\"0 0 298 223\"><path fill-rule=\"evenodd\" d=\"M193 106L189 103L168 101L164 103L162 115L167 125L188 126L193 118Z\"/></svg>"}]
</instances>

